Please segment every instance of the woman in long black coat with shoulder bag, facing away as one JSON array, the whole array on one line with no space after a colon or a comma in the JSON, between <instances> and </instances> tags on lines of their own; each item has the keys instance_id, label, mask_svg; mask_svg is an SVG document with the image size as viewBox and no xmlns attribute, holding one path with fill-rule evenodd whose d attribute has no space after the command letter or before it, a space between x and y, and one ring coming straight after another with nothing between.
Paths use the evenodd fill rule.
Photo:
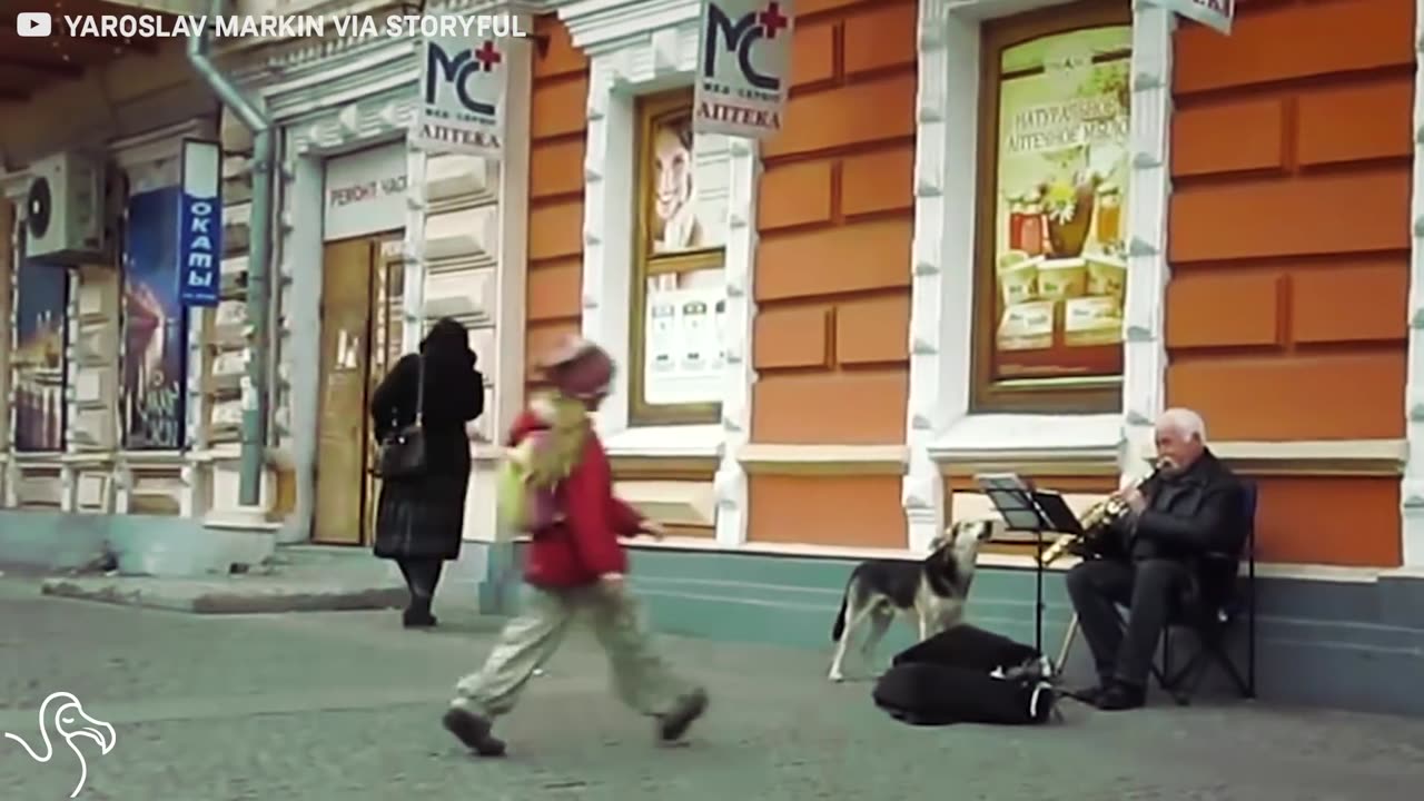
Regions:
<instances>
[{"instance_id":1,"label":"woman in long black coat with shoulder bag, facing away","mask_svg":"<svg viewBox=\"0 0 1424 801\"><path fill-rule=\"evenodd\" d=\"M437 322L420 355L407 353L370 399L376 440L416 422L417 385L424 362L424 475L386 479L376 507L376 556L394 559L410 587L406 627L434 626L430 601L446 559L460 556L464 495L470 486L470 439L466 423L484 410L484 376L474 369L464 325Z\"/></svg>"}]
</instances>

